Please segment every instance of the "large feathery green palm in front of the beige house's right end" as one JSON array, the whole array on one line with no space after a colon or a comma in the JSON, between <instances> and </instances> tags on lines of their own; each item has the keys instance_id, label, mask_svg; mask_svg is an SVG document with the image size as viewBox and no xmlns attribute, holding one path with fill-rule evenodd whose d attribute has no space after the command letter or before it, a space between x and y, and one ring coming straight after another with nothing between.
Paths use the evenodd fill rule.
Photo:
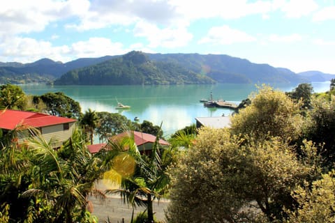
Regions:
<instances>
[{"instance_id":1,"label":"large feathery green palm in front of the beige house's right end","mask_svg":"<svg viewBox=\"0 0 335 223\"><path fill-rule=\"evenodd\" d=\"M29 141L34 153L30 164L32 183L22 195L34 198L31 210L35 210L40 222L83 222L87 217L87 195L101 174L96 159L87 151L79 130L59 151L51 145L52 141L42 137ZM43 207L42 211L38 206Z\"/></svg>"}]
</instances>

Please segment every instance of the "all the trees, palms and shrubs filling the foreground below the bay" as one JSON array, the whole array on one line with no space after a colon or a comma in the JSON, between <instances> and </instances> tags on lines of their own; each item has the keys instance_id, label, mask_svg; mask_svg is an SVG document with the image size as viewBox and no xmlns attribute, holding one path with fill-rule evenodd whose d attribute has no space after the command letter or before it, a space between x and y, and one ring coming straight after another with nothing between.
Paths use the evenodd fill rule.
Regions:
<instances>
[{"instance_id":1,"label":"all the trees, palms and shrubs filling the foreground below the bay","mask_svg":"<svg viewBox=\"0 0 335 223\"><path fill-rule=\"evenodd\" d=\"M162 197L170 199L166 222L334 222L334 86L335 79L325 93L310 84L289 93L259 86L230 128L189 126L168 147L159 146L163 132L148 121L82 113L62 93L31 96L1 86L1 109L73 117L78 128L57 151L38 132L18 144L20 126L1 134L0 222L97 222L90 193L144 206L141 222L156 221L152 202ZM156 135L152 152L140 154L131 133L112 140L124 130ZM92 155L94 134L107 146ZM118 187L97 191L96 180L106 176Z\"/></svg>"}]
</instances>

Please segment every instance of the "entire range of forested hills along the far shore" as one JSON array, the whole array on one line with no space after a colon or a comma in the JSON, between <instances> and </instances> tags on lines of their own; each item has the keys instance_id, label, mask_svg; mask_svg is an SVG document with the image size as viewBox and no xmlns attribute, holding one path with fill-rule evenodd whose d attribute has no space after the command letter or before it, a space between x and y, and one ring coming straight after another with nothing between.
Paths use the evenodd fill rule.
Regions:
<instances>
[{"instance_id":1,"label":"entire range of forested hills along the far shore","mask_svg":"<svg viewBox=\"0 0 335 223\"><path fill-rule=\"evenodd\" d=\"M57 79L55 84L302 83L315 79L327 81L332 77L327 74L320 76L318 71L313 71L312 75L311 72L296 74L287 68L251 63L223 54L130 52L67 63L50 59L25 64L0 62L0 84L49 82L54 79Z\"/></svg>"}]
</instances>

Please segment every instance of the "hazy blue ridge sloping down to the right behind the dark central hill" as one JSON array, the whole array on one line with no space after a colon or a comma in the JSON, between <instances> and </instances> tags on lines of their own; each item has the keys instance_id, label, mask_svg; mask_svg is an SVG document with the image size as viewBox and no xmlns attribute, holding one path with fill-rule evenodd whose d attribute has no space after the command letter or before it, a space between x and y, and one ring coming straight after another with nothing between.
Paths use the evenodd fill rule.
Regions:
<instances>
[{"instance_id":1,"label":"hazy blue ridge sloping down to the right behind the dark central hill","mask_svg":"<svg viewBox=\"0 0 335 223\"><path fill-rule=\"evenodd\" d=\"M222 83L300 83L295 72L222 54L148 54L156 61L174 61Z\"/></svg>"}]
</instances>

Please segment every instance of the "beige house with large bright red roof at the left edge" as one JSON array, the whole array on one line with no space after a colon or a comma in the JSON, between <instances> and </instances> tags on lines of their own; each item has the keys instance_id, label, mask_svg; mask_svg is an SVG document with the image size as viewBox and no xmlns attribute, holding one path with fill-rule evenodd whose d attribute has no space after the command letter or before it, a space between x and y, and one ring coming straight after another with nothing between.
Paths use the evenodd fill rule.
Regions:
<instances>
[{"instance_id":1,"label":"beige house with large bright red roof at the left edge","mask_svg":"<svg viewBox=\"0 0 335 223\"><path fill-rule=\"evenodd\" d=\"M36 112L0 110L0 129L3 134L20 128L19 141L23 141L30 136L27 129L35 128L46 141L54 140L53 148L59 148L72 135L76 121L73 118L50 116Z\"/></svg>"}]
</instances>

